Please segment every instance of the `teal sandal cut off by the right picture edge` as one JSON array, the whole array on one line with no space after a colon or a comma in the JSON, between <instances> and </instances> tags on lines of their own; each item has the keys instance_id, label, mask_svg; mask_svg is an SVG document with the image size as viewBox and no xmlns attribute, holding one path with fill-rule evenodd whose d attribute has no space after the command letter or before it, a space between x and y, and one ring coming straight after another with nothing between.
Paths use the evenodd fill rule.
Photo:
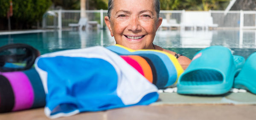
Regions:
<instances>
[{"instance_id":1,"label":"teal sandal cut off by the right picture edge","mask_svg":"<svg viewBox=\"0 0 256 120\"><path fill-rule=\"evenodd\" d=\"M256 52L251 54L234 81L234 88L246 89L256 94Z\"/></svg>"}]
</instances>

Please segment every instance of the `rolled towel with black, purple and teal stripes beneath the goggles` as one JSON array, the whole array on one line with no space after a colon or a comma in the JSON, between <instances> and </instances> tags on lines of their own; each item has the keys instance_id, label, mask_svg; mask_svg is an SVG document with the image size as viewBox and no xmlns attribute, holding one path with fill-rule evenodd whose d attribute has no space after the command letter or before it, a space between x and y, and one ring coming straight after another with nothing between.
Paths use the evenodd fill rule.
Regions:
<instances>
[{"instance_id":1,"label":"rolled towel with black, purple and teal stripes beneath the goggles","mask_svg":"<svg viewBox=\"0 0 256 120\"><path fill-rule=\"evenodd\" d=\"M45 106L45 92L35 68L0 72L0 112Z\"/></svg>"}]
</instances>

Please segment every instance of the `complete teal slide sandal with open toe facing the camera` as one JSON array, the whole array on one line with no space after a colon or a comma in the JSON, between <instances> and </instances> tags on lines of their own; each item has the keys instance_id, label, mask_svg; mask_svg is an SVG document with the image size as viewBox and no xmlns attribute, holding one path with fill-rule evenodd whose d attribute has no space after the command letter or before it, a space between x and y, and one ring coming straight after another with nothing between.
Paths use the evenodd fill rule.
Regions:
<instances>
[{"instance_id":1,"label":"complete teal slide sandal with open toe facing the camera","mask_svg":"<svg viewBox=\"0 0 256 120\"><path fill-rule=\"evenodd\" d=\"M177 83L179 94L218 95L227 93L244 64L244 57L232 55L223 46L211 46L195 54Z\"/></svg>"}]
</instances>

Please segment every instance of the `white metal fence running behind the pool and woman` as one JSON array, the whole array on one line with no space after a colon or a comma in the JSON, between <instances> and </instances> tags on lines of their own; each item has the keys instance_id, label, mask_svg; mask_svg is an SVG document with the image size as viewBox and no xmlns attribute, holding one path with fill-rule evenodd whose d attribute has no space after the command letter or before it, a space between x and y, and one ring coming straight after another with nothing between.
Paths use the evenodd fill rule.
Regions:
<instances>
[{"instance_id":1,"label":"white metal fence running behind the pool and woman","mask_svg":"<svg viewBox=\"0 0 256 120\"><path fill-rule=\"evenodd\" d=\"M70 28L70 23L78 23L80 10L54 10L43 16L42 27ZM97 21L100 28L106 28L104 17L107 10L86 10L89 21ZM54 14L53 14L54 13ZM206 14L209 18L206 19ZM160 11L160 17L166 20L168 27L214 27L215 29L256 29L256 11ZM193 23L194 22L194 23ZM164 27L164 25L163 25Z\"/></svg>"}]
</instances>

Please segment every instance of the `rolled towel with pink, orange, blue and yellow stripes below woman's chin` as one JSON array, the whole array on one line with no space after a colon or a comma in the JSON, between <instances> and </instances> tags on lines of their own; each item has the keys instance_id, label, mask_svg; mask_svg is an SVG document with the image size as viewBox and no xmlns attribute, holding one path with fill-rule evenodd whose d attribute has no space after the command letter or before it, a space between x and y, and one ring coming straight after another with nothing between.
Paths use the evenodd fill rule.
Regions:
<instances>
[{"instance_id":1,"label":"rolled towel with pink, orange, blue and yellow stripes below woman's chin","mask_svg":"<svg viewBox=\"0 0 256 120\"><path fill-rule=\"evenodd\" d=\"M131 57L129 59L133 59L140 63L142 68L148 68L143 69L142 73L146 74L147 76L144 75L144 77L156 85L158 89L163 89L168 86L175 85L177 83L178 77L183 72L183 69L180 66L180 63L178 63L177 58L174 55L164 51L148 49L133 50L118 44L114 46L108 46L107 49L115 52L116 54L119 54L120 56L137 56L143 58L143 61L146 61L144 63L141 63L141 61L135 57ZM132 64L135 64L131 60L127 60L128 58L122 58L126 60L126 62L131 66L133 66ZM136 69L137 67L135 66L136 65L133 67ZM137 71L140 72L139 69L137 69Z\"/></svg>"}]
</instances>

